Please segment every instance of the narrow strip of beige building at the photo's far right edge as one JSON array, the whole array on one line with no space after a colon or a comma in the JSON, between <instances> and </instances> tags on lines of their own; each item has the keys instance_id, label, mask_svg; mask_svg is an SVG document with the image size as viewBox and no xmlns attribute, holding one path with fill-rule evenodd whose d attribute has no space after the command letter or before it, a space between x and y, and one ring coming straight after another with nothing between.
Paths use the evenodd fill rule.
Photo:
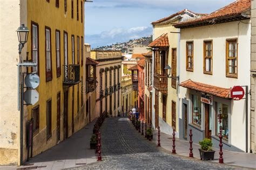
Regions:
<instances>
[{"instance_id":1,"label":"narrow strip of beige building at the photo's far right edge","mask_svg":"<svg viewBox=\"0 0 256 170\"><path fill-rule=\"evenodd\" d=\"M256 81L256 1L252 0L251 7L251 22L252 22L252 37L251 37L251 150L256 153L256 119L255 119L255 81Z\"/></svg>"}]
</instances>

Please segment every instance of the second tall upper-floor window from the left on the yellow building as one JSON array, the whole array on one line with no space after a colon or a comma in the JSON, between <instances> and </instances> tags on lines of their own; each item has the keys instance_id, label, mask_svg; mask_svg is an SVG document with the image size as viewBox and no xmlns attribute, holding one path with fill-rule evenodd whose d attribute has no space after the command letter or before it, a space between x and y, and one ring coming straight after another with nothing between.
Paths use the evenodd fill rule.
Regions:
<instances>
[{"instance_id":1,"label":"second tall upper-floor window from the left on the yellow building","mask_svg":"<svg viewBox=\"0 0 256 170\"><path fill-rule=\"evenodd\" d=\"M51 29L45 27L46 81L52 80L51 69Z\"/></svg>"}]
</instances>

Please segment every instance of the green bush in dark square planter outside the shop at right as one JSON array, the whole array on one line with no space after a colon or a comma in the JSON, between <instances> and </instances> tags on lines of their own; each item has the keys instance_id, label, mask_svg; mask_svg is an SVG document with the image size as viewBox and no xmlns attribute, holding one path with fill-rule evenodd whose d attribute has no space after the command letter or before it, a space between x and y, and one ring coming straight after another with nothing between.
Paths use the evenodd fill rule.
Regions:
<instances>
[{"instance_id":1,"label":"green bush in dark square planter outside the shop at right","mask_svg":"<svg viewBox=\"0 0 256 170\"><path fill-rule=\"evenodd\" d=\"M199 141L200 158L201 160L213 160L215 151L212 150L212 140L205 138L203 141Z\"/></svg>"}]
</instances>

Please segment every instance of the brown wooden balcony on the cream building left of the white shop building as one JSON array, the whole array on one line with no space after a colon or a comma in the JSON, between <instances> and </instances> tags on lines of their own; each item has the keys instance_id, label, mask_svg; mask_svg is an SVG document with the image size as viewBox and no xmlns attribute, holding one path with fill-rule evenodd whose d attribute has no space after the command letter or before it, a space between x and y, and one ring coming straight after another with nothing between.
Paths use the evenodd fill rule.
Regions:
<instances>
[{"instance_id":1,"label":"brown wooden balcony on the cream building left of the white shop building","mask_svg":"<svg viewBox=\"0 0 256 170\"><path fill-rule=\"evenodd\" d=\"M161 93L168 93L168 78L165 75L154 75L154 88Z\"/></svg>"}]
</instances>

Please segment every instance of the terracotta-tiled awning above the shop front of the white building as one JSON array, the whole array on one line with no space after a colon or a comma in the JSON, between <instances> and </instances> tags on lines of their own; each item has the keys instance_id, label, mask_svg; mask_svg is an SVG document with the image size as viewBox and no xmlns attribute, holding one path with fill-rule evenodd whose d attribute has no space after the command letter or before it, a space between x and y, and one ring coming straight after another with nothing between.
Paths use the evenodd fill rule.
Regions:
<instances>
[{"instance_id":1,"label":"terracotta-tiled awning above the shop front of the white building","mask_svg":"<svg viewBox=\"0 0 256 170\"><path fill-rule=\"evenodd\" d=\"M212 86L209 84L194 82L192 80L187 80L179 84L182 87L186 87L188 89L197 90L203 93L207 93L210 95L218 96L221 98L231 98L230 90L222 87Z\"/></svg>"}]
</instances>

